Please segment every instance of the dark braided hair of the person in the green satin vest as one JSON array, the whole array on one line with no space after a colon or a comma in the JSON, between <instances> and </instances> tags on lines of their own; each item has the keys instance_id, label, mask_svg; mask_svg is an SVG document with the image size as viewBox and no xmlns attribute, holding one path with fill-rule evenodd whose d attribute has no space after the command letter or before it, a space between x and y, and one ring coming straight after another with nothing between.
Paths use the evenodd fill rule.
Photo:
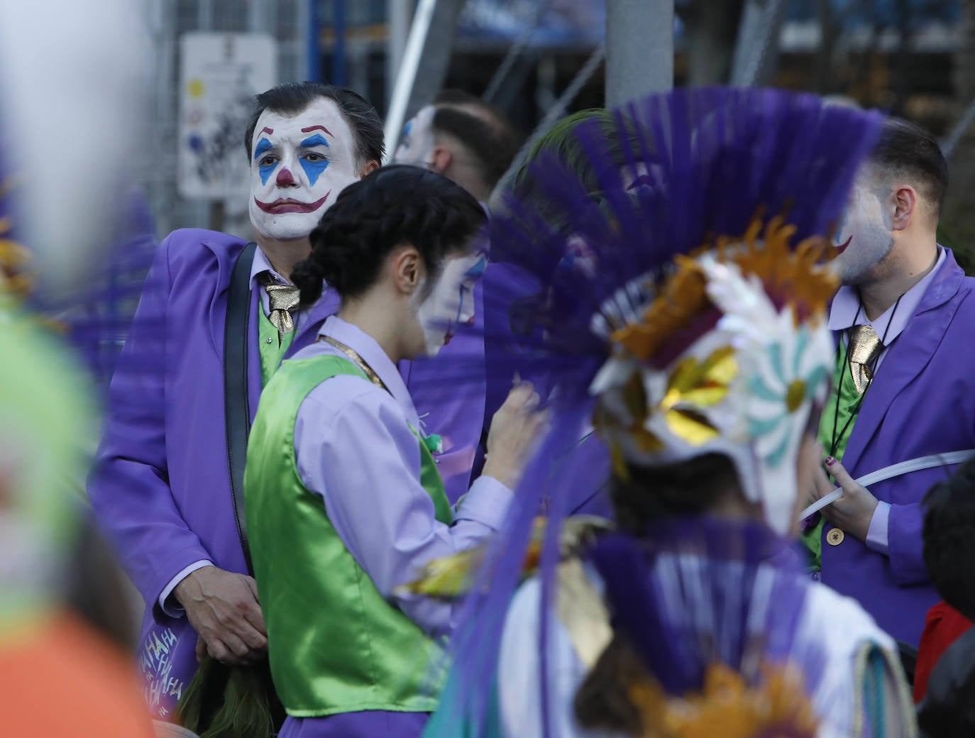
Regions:
<instances>
[{"instance_id":1,"label":"dark braided hair of the person in the green satin vest","mask_svg":"<svg viewBox=\"0 0 975 738\"><path fill-rule=\"evenodd\" d=\"M409 244L423 257L432 289L444 259L464 251L487 216L474 197L446 176L398 164L346 187L311 232L312 251L292 282L301 304L322 294L322 281L343 298L367 291L386 256Z\"/></svg>"}]
</instances>

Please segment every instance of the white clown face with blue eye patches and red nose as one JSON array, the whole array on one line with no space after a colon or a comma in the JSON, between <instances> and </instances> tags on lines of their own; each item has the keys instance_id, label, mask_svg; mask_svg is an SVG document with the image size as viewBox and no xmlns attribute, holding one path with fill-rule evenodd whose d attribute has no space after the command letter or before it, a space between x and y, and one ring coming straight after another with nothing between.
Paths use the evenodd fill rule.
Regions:
<instances>
[{"instance_id":1,"label":"white clown face with blue eye patches and red nose","mask_svg":"<svg viewBox=\"0 0 975 738\"><path fill-rule=\"evenodd\" d=\"M333 100L297 115L265 110L251 142L251 222L267 238L305 238L359 178L355 140Z\"/></svg>"}]
</instances>

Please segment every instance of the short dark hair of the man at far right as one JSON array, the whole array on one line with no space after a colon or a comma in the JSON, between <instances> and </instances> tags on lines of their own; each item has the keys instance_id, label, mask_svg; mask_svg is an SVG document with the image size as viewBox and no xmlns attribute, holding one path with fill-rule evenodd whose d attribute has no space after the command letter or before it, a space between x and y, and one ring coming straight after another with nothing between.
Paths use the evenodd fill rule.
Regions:
<instances>
[{"instance_id":1,"label":"short dark hair of the man at far right","mask_svg":"<svg viewBox=\"0 0 975 738\"><path fill-rule=\"evenodd\" d=\"M870 163L884 174L907 177L935 218L948 189L948 162L938 142L917 124L890 118L883 124Z\"/></svg>"}]
</instances>

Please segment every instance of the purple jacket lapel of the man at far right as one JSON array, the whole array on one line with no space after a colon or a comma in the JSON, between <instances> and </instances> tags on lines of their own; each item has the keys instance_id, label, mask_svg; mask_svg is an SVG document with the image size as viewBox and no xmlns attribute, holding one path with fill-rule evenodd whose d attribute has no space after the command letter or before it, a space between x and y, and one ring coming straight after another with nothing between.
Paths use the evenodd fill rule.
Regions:
<instances>
[{"instance_id":1,"label":"purple jacket lapel of the man at far right","mask_svg":"<svg viewBox=\"0 0 975 738\"><path fill-rule=\"evenodd\" d=\"M930 363L955 317L958 302L951 300L956 296L963 277L964 272L949 251L945 263L938 270L938 276L924 292L917 312L884 357L877 377L863 400L863 407L843 453L843 466L855 475L877 471L857 469L857 462L876 438L894 400Z\"/></svg>"}]
</instances>

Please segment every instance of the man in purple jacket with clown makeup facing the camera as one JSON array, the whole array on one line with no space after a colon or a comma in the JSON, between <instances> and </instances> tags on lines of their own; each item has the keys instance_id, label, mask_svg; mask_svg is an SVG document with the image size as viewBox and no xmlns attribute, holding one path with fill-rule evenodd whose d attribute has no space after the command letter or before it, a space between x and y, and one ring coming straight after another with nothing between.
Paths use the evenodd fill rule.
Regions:
<instances>
[{"instance_id":1,"label":"man in purple jacket with clown makeup facing the camera","mask_svg":"<svg viewBox=\"0 0 975 738\"><path fill-rule=\"evenodd\" d=\"M199 229L178 230L160 245L112 381L89 482L98 522L145 601L138 660L157 718L172 714L205 652L233 665L265 657L232 437L246 441L261 388L337 310L326 291L298 311L289 276L310 252L321 215L383 153L370 103L312 82L257 96L245 144L256 246L251 252L239 238ZM241 259L242 309L231 312ZM135 369L153 364L154 372ZM228 390L231 376L240 377L239 394ZM232 408L241 408L236 425L225 414Z\"/></svg>"}]
</instances>

